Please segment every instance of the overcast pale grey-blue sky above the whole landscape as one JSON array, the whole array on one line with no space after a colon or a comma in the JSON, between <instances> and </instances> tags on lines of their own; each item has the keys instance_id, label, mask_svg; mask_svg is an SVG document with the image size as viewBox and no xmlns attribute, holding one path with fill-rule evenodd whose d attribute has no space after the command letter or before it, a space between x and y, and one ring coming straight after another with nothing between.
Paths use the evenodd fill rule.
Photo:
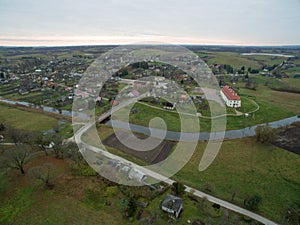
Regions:
<instances>
[{"instance_id":1,"label":"overcast pale grey-blue sky above the whole landscape","mask_svg":"<svg viewBox=\"0 0 300 225\"><path fill-rule=\"evenodd\" d=\"M0 0L0 46L299 45L300 0Z\"/></svg>"}]
</instances>

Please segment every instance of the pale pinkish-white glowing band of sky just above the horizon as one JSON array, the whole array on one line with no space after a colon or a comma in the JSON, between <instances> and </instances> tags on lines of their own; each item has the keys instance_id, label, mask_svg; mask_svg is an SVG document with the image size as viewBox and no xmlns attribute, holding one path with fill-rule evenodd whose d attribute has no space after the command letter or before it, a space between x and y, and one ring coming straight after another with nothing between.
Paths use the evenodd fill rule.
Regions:
<instances>
[{"instance_id":1,"label":"pale pinkish-white glowing band of sky just above the horizon","mask_svg":"<svg viewBox=\"0 0 300 225\"><path fill-rule=\"evenodd\" d=\"M237 47L283 47L300 46L300 43L263 43L233 39L214 39L174 36L0 36L3 47L67 47L67 46L107 46L107 45L195 45L195 46L237 46Z\"/></svg>"}]
</instances>

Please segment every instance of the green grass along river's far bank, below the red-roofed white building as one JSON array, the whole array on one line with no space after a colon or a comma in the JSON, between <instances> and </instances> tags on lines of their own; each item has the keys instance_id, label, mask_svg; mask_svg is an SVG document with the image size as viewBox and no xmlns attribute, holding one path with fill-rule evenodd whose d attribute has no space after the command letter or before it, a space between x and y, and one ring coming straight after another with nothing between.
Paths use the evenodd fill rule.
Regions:
<instances>
[{"instance_id":1,"label":"green grass along river's far bank, below the red-roofed white building","mask_svg":"<svg viewBox=\"0 0 300 225\"><path fill-rule=\"evenodd\" d=\"M244 93L251 94L252 92L248 92L246 90ZM259 93L257 91L257 93ZM278 94L279 98L283 98L284 95L290 95L290 93L284 93L283 95ZM292 95L295 98L297 97L296 94ZM270 96L271 98L271 96ZM248 110L254 110L256 109L256 106L251 102L250 99L243 98L245 100L245 104L241 109L239 109L241 112L247 112ZM268 99L268 98L265 98ZM273 98L276 99L276 98ZM291 117L296 114L297 107L295 105L290 105L289 107L282 107L283 104L285 104L285 101L280 102L277 100L278 104L274 104L275 100L272 100L271 102L261 99L261 98L253 98L257 102L257 104L260 106L260 109L255 112L254 114L251 114L249 117L244 116L227 116L227 130L234 130L234 129L241 129L243 127L253 126L256 124L266 123L266 122L272 122L280 119L284 119L287 117ZM296 106L299 103L296 103L296 99L294 99L292 102L286 102L286 104L296 104ZM180 120L177 113L174 112L167 112L159 109L150 108L146 105L136 103L134 107L138 110L136 114L130 115L130 123L133 124L139 124L148 127L149 121L152 118L155 117L161 117L165 123L167 124L168 130L171 131L180 131ZM289 111L289 109L291 111ZM114 119L119 119L126 121L126 117L123 110L120 110L115 114ZM210 119L204 119L199 118L200 120L200 127L201 131L209 131L211 126L211 120ZM221 121L221 119L215 119L216 122ZM185 122L189 122L188 120L185 120ZM191 126L192 127L192 126ZM159 128L159 127L156 127Z\"/></svg>"}]
</instances>

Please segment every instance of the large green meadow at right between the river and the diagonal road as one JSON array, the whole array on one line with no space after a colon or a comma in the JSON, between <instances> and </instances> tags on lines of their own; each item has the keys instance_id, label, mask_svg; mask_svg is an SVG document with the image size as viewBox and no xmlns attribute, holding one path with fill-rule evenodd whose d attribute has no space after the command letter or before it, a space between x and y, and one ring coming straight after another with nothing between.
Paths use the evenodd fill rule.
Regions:
<instances>
[{"instance_id":1,"label":"large green meadow at right between the river and the diagonal road","mask_svg":"<svg viewBox=\"0 0 300 225\"><path fill-rule=\"evenodd\" d=\"M262 198L258 212L277 222L284 209L300 201L300 158L272 145L256 143L251 138L225 141L213 164L198 171L205 148L199 143L190 162L175 179L192 187L243 205L246 197Z\"/></svg>"}]
</instances>

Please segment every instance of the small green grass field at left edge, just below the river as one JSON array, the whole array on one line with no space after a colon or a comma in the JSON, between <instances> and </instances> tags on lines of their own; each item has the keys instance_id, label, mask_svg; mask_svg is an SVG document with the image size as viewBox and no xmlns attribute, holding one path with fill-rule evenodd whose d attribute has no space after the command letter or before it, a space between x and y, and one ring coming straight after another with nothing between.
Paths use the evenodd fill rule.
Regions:
<instances>
[{"instance_id":1,"label":"small green grass field at left edge, just below the river","mask_svg":"<svg viewBox=\"0 0 300 225\"><path fill-rule=\"evenodd\" d=\"M58 120L41 113L27 112L0 104L0 121L17 129L30 131L49 130Z\"/></svg>"}]
</instances>

